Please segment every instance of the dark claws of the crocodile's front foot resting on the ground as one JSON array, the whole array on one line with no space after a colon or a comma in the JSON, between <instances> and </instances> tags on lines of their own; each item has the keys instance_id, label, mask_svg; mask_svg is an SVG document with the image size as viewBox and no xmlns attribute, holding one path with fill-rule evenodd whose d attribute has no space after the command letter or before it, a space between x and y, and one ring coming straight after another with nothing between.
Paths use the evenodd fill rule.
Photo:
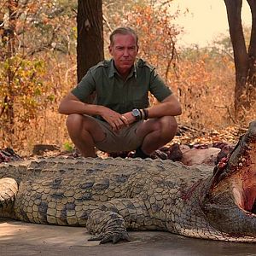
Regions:
<instances>
[{"instance_id":1,"label":"dark claws of the crocodile's front foot resting on the ground","mask_svg":"<svg viewBox=\"0 0 256 256\"><path fill-rule=\"evenodd\" d=\"M100 241L100 244L112 241L113 243L117 243L118 241L130 241L128 233L125 231L117 233L117 232L108 232L105 234L101 234L98 236L91 236L88 241Z\"/></svg>"}]
</instances>

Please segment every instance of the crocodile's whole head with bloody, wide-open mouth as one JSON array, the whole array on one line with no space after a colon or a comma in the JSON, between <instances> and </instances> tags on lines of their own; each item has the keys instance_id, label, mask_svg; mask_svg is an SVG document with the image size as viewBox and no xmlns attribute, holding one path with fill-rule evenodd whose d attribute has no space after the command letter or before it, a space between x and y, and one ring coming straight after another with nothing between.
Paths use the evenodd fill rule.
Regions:
<instances>
[{"instance_id":1,"label":"crocodile's whole head with bloody, wide-open mouth","mask_svg":"<svg viewBox=\"0 0 256 256\"><path fill-rule=\"evenodd\" d=\"M227 162L218 166L203 211L220 231L256 235L256 121L250 123Z\"/></svg>"}]
</instances>

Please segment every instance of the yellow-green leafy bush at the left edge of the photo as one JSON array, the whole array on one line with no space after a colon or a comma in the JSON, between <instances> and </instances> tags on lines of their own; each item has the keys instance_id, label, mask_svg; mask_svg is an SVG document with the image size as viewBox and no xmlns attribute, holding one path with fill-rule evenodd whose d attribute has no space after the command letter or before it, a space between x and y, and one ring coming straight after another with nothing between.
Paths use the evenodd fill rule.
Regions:
<instances>
[{"instance_id":1,"label":"yellow-green leafy bush at the left edge of the photo","mask_svg":"<svg viewBox=\"0 0 256 256\"><path fill-rule=\"evenodd\" d=\"M10 107L5 101L6 96L12 99L11 107L18 111L17 120L29 122L35 118L39 108L45 101L49 87L44 84L45 63L38 59L24 59L15 55L0 62L0 106L6 112ZM9 77L12 77L10 79Z\"/></svg>"}]
</instances>

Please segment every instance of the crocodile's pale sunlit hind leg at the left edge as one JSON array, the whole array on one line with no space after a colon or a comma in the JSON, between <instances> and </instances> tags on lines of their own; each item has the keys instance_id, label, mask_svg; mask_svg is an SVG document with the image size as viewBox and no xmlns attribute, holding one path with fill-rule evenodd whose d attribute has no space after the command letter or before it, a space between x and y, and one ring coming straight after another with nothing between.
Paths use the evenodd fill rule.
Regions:
<instances>
[{"instance_id":1,"label":"crocodile's pale sunlit hind leg at the left edge","mask_svg":"<svg viewBox=\"0 0 256 256\"><path fill-rule=\"evenodd\" d=\"M3 177L0 179L0 217L14 218L13 211L18 184L15 179Z\"/></svg>"}]
</instances>

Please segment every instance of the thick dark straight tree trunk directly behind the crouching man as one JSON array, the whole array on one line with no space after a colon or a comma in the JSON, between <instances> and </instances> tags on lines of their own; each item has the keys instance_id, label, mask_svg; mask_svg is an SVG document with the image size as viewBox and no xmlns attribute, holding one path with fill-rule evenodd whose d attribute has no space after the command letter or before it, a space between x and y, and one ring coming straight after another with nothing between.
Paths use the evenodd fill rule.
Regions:
<instances>
[{"instance_id":1,"label":"thick dark straight tree trunk directly behind the crouching man","mask_svg":"<svg viewBox=\"0 0 256 256\"><path fill-rule=\"evenodd\" d=\"M104 59L102 0L79 0L78 82L88 69Z\"/></svg>"}]
</instances>

